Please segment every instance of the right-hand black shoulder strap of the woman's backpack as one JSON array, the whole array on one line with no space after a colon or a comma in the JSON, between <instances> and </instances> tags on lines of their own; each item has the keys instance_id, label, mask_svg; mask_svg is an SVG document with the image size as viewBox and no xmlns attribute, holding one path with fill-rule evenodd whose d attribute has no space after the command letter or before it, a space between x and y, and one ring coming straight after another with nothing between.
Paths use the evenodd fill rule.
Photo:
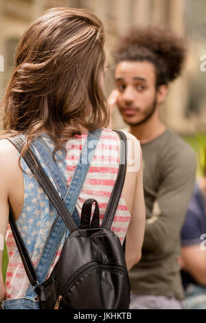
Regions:
<instances>
[{"instance_id":1,"label":"right-hand black shoulder strap of the woman's backpack","mask_svg":"<svg viewBox=\"0 0 206 323\"><path fill-rule=\"evenodd\" d=\"M108 230L111 229L117 205L122 194L122 188L124 186L124 180L126 176L126 164L127 164L127 138L123 131L115 131L120 137L120 158L119 158L119 170L117 178L115 180L115 186L111 192L111 197L108 201L106 212L102 220L101 227L106 227Z\"/></svg>"}]
</instances>

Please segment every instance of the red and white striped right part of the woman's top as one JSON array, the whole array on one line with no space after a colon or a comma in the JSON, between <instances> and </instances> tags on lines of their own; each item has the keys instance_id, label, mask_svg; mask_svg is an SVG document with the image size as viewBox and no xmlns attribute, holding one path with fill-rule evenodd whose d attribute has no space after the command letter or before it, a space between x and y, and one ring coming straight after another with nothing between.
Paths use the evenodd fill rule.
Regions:
<instances>
[{"instance_id":1,"label":"red and white striped right part of the woman's top","mask_svg":"<svg viewBox=\"0 0 206 323\"><path fill-rule=\"evenodd\" d=\"M69 154L67 153L66 157L68 184L73 176L73 171L78 163L80 152L86 138L87 134L82 134L81 136L76 136L76 141L73 141L72 146L69 142L67 144L67 150L70 151ZM98 201L100 207L100 220L102 221L119 168L117 147L117 140L113 131L104 128L78 198L76 207L79 214L82 210L84 201L89 198L94 198ZM121 196L111 230L119 236L122 243L126 235L129 221L130 214L124 198Z\"/></svg>"}]
</instances>

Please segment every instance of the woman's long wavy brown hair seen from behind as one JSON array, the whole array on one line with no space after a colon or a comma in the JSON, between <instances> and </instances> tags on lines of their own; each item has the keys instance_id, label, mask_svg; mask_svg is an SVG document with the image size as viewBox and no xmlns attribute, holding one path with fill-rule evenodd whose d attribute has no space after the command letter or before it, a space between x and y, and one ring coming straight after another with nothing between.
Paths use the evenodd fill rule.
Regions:
<instances>
[{"instance_id":1,"label":"woman's long wavy brown hair seen from behind","mask_svg":"<svg viewBox=\"0 0 206 323\"><path fill-rule=\"evenodd\" d=\"M25 31L1 102L3 136L47 133L54 153L80 134L108 125L102 88L104 27L95 14L52 8Z\"/></svg>"}]
</instances>

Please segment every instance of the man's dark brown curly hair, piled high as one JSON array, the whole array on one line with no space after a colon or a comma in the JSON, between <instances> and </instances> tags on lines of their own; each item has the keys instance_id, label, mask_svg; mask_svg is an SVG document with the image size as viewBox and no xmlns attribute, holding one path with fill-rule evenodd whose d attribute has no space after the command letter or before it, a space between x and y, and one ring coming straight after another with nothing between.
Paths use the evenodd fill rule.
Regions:
<instances>
[{"instance_id":1,"label":"man's dark brown curly hair, piled high","mask_svg":"<svg viewBox=\"0 0 206 323\"><path fill-rule=\"evenodd\" d=\"M186 56L186 41L161 27L130 27L119 38L113 50L115 63L122 60L149 61L156 67L156 86L174 80L181 74Z\"/></svg>"}]
</instances>

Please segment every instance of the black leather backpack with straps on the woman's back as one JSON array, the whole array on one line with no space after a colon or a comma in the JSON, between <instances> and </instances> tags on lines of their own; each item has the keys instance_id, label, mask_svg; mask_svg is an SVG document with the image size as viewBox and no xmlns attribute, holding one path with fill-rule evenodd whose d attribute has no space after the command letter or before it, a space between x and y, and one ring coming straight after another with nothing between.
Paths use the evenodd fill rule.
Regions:
<instances>
[{"instance_id":1,"label":"black leather backpack with straps on the woman's back","mask_svg":"<svg viewBox=\"0 0 206 323\"><path fill-rule=\"evenodd\" d=\"M10 211L16 245L41 309L129 308L130 282L124 250L119 238L111 231L126 175L126 136L121 131L117 133L122 139L119 171L101 226L98 201L87 199L84 202L78 227L32 151L23 157L70 232L51 276L39 283ZM18 140L13 138L12 143L21 151ZM91 220L93 203L95 210Z\"/></svg>"}]
</instances>

